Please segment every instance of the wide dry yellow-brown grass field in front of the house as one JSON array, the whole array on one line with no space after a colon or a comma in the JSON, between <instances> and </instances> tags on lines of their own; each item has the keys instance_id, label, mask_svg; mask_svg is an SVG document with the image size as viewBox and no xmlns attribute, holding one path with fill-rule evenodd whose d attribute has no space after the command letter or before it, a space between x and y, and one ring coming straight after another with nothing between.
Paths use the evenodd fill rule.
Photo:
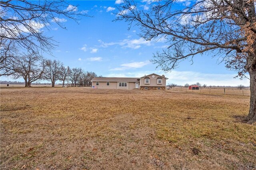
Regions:
<instances>
[{"instance_id":1,"label":"wide dry yellow-brown grass field in front of the house","mask_svg":"<svg viewBox=\"0 0 256 170\"><path fill-rule=\"evenodd\" d=\"M1 88L1 170L256 169L248 96Z\"/></svg>"}]
</instances>

